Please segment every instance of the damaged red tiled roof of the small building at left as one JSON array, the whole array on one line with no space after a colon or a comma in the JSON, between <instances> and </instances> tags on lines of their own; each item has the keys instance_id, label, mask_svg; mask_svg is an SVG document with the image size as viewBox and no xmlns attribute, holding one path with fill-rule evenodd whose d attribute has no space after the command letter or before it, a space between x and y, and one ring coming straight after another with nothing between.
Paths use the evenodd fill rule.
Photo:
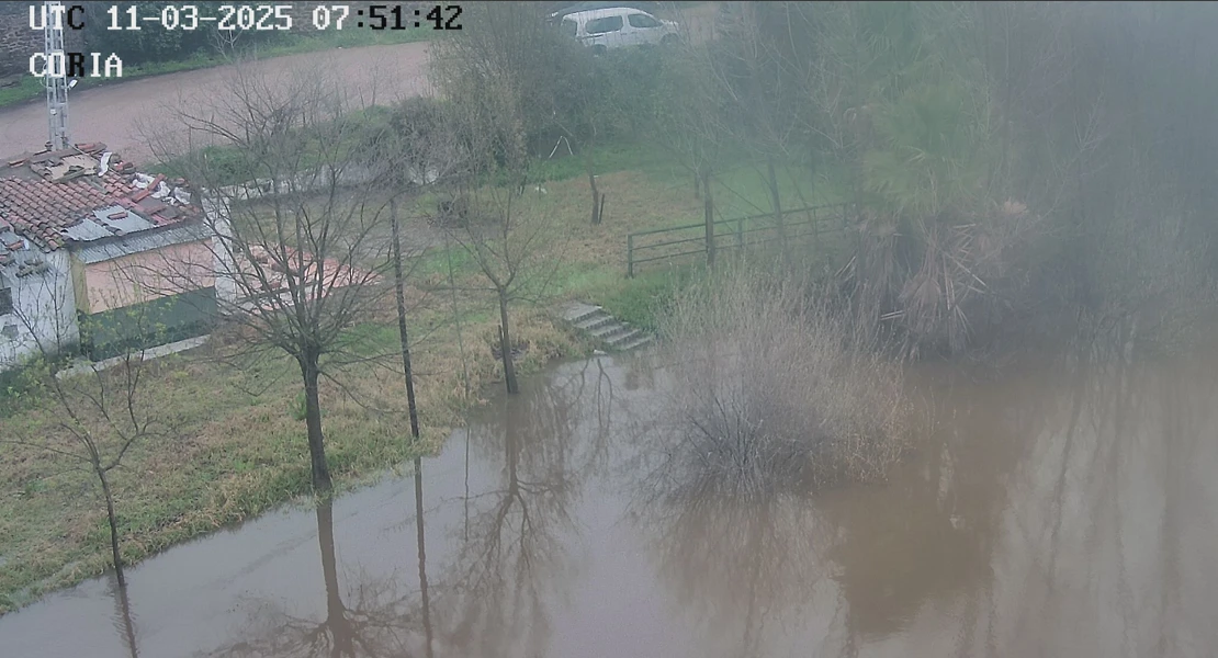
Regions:
<instances>
[{"instance_id":1,"label":"damaged red tiled roof of the small building at left","mask_svg":"<svg viewBox=\"0 0 1218 658\"><path fill-rule=\"evenodd\" d=\"M164 176L136 174L133 164L105 153L106 145L85 144L0 162L0 231L7 224L54 251L74 241L122 236L133 219L152 229L202 216L184 181L169 185ZM102 163L106 171L99 176ZM105 208L110 210L104 215L94 212Z\"/></svg>"}]
</instances>

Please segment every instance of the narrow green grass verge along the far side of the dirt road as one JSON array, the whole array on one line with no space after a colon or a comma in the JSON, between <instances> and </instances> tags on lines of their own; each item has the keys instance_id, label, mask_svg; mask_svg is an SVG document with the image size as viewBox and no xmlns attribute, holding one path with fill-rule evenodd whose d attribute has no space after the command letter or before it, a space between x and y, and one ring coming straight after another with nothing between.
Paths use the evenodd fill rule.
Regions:
<instances>
[{"instance_id":1,"label":"narrow green grass verge along the far side of the dirt road","mask_svg":"<svg viewBox=\"0 0 1218 658\"><path fill-rule=\"evenodd\" d=\"M250 49L246 56L258 60L269 60L286 55L300 55L303 52L317 52L320 50L333 50L339 47L363 47L385 46L395 44L409 44L431 39L436 32L430 29L407 30L381 30L345 29L317 32L315 34L291 34L276 41L258 44L256 49ZM224 66L231 61L230 56L222 56L216 52L196 52L189 57L163 62L147 62L144 64L124 66L122 78L80 78L80 83L73 90L78 92L91 86L106 84L118 84L150 75L163 75L166 73L179 73L183 71L195 71L200 68L212 68ZM28 101L41 100L46 96L46 88L41 80L33 75L21 75L17 84L0 88L0 108L21 105Z\"/></svg>"}]
</instances>

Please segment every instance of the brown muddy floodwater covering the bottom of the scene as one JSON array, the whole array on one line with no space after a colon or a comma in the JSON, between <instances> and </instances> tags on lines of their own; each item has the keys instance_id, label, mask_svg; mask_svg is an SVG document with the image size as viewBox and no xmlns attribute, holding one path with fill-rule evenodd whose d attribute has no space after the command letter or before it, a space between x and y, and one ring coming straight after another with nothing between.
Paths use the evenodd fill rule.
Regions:
<instances>
[{"instance_id":1,"label":"brown muddy floodwater covering the bottom of the scene","mask_svg":"<svg viewBox=\"0 0 1218 658\"><path fill-rule=\"evenodd\" d=\"M51 595L0 656L1216 656L1214 356L924 371L888 483L747 505L639 477L663 375L568 364L421 477Z\"/></svg>"}]
</instances>

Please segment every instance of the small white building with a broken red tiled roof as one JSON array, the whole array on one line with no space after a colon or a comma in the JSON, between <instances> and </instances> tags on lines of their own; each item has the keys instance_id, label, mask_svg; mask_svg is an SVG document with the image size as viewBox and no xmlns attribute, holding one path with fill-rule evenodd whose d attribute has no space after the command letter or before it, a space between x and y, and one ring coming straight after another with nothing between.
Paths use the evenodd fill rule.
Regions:
<instances>
[{"instance_id":1,"label":"small white building with a broken red tiled roof","mask_svg":"<svg viewBox=\"0 0 1218 658\"><path fill-rule=\"evenodd\" d=\"M102 144L0 162L0 370L206 332L212 237L184 180L138 173Z\"/></svg>"}]
</instances>

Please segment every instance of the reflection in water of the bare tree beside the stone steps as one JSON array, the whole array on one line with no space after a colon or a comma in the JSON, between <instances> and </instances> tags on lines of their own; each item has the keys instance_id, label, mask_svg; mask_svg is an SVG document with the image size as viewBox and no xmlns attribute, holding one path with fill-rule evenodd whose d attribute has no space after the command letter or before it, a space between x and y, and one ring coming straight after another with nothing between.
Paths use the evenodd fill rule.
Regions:
<instances>
[{"instance_id":1,"label":"reflection in water of the bare tree beside the stone steps","mask_svg":"<svg viewBox=\"0 0 1218 658\"><path fill-rule=\"evenodd\" d=\"M613 383L599 360L526 382L479 423L473 450L498 471L470 497L464 541L436 597L456 656L540 656L570 581L571 510L608 463ZM587 422L581 422L581 421ZM579 434L577 434L579 432Z\"/></svg>"}]
</instances>

